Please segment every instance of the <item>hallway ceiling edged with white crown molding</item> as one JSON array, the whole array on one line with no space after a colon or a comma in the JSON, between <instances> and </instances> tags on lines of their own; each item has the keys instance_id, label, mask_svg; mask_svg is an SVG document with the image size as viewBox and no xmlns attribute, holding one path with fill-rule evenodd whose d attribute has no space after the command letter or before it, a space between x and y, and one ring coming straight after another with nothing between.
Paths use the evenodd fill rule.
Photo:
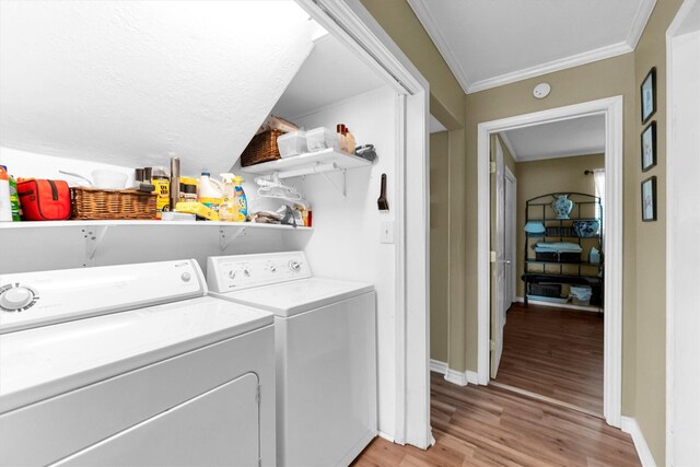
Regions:
<instances>
[{"instance_id":1,"label":"hallway ceiling edged with white crown molding","mask_svg":"<svg viewBox=\"0 0 700 467\"><path fill-rule=\"evenodd\" d=\"M632 51L655 0L408 0L465 92Z\"/></svg>"}]
</instances>

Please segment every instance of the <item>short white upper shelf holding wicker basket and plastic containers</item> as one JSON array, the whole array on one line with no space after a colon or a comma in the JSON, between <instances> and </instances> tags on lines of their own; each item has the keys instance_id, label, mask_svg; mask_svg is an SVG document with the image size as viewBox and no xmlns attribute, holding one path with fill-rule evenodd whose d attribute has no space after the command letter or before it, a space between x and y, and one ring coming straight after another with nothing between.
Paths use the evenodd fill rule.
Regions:
<instances>
[{"instance_id":1,"label":"short white upper shelf holding wicker basket and plastic containers","mask_svg":"<svg viewBox=\"0 0 700 467\"><path fill-rule=\"evenodd\" d=\"M323 171L330 172L332 170L366 167L372 165L372 162L364 157L360 157L359 155L347 154L329 148L324 149L323 151L307 152L305 154L278 159L277 161L248 165L242 170L249 174L264 175L277 172L278 174L289 173L289 176L301 176L317 172L315 171L315 167L318 167L322 164L324 167L335 164L334 167L325 168Z\"/></svg>"}]
</instances>

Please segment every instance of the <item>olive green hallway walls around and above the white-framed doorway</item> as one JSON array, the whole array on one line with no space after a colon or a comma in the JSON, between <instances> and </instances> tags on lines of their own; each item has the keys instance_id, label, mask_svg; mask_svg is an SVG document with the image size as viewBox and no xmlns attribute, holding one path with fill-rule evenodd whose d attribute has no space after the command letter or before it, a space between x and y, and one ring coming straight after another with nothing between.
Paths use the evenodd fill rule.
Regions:
<instances>
[{"instance_id":1,"label":"olive green hallway walls around and above the white-framed doorway","mask_svg":"<svg viewBox=\"0 0 700 467\"><path fill-rule=\"evenodd\" d=\"M431 113L451 131L448 364L477 370L477 125L621 95L623 105L622 413L637 418L657 464L665 440L665 31L681 0L658 0L637 49L622 56L465 95L406 0L362 0L428 79ZM640 208L639 85L657 70L658 221ZM551 94L532 95L546 81ZM464 105L464 109L459 106ZM466 152L466 157L465 157ZM463 214L464 213L464 214ZM466 265L465 265L466 262Z\"/></svg>"}]
</instances>

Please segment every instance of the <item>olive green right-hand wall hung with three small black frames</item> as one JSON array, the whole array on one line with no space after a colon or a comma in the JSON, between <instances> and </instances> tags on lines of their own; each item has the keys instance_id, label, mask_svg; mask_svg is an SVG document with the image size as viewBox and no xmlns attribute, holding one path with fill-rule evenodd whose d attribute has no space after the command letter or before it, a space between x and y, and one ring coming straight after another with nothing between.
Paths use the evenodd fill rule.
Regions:
<instances>
[{"instance_id":1,"label":"olive green right-hand wall hung with three small black frames","mask_svg":"<svg viewBox=\"0 0 700 467\"><path fill-rule=\"evenodd\" d=\"M632 411L657 465L665 464L666 440L666 30L681 0L660 0L634 49L634 128L635 163L630 166L634 179L633 209L637 246L637 399ZM652 67L656 67L657 165L642 174L640 163L640 86ZM627 167L626 167L627 168ZM642 222L640 183L657 178L656 222Z\"/></svg>"}]
</instances>

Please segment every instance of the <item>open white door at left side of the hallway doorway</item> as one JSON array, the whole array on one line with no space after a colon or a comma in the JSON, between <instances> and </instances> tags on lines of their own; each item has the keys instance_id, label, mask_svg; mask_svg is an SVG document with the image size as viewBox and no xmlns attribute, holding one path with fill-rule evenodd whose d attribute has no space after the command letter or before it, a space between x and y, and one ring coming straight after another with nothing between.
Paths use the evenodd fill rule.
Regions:
<instances>
[{"instance_id":1,"label":"open white door at left side of the hallway doorway","mask_svg":"<svg viewBox=\"0 0 700 467\"><path fill-rule=\"evenodd\" d=\"M495 377L503 353L503 326L505 325L505 311L508 294L505 258L505 177L503 170L503 149L495 139L495 224L493 244L491 250L495 252L495 261L491 264L493 280L491 296L491 377Z\"/></svg>"}]
</instances>

